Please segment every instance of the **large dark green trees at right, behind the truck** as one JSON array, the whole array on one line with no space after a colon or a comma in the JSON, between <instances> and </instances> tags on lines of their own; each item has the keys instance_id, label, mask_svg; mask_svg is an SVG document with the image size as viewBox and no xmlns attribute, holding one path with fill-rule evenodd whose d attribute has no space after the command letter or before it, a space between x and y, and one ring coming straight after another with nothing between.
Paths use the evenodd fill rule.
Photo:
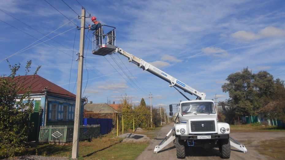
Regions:
<instances>
[{"instance_id":1,"label":"large dark green trees at right, behind the truck","mask_svg":"<svg viewBox=\"0 0 285 160\"><path fill-rule=\"evenodd\" d=\"M278 104L279 108L267 107L260 113L263 113L264 117L273 116L274 118L282 113L284 105L280 104L284 102L285 92L282 92L284 83L279 79L274 80L267 71L253 74L248 68L244 68L241 72L230 74L226 80L229 83L222 85L222 91L228 92L230 97L226 102L229 106L226 114L228 123L233 124L234 118L238 115L256 115L273 101L278 102L275 104ZM269 112L272 113L269 115Z\"/></svg>"}]
</instances>

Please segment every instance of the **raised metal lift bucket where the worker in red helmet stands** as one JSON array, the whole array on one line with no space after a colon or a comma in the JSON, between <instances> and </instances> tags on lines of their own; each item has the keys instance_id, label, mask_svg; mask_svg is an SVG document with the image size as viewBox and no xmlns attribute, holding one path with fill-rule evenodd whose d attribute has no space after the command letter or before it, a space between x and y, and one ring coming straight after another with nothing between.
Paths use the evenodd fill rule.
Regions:
<instances>
[{"instance_id":1,"label":"raised metal lift bucket where the worker in red helmet stands","mask_svg":"<svg viewBox=\"0 0 285 160\"><path fill-rule=\"evenodd\" d=\"M102 25L99 32L93 32L92 54L105 56L112 54L116 50L116 28ZM104 33L107 31L107 34Z\"/></svg>"}]
</instances>

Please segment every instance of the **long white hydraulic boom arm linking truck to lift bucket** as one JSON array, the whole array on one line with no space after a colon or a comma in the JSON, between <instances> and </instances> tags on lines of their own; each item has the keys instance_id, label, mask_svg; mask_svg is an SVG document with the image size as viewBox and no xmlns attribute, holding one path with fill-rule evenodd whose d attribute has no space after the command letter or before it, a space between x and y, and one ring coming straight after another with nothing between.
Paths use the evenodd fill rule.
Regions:
<instances>
[{"instance_id":1,"label":"long white hydraulic boom arm linking truck to lift bucket","mask_svg":"<svg viewBox=\"0 0 285 160\"><path fill-rule=\"evenodd\" d=\"M133 54L129 54L128 52L124 51L123 49L119 47L116 48L116 52L127 57L129 59L129 62L134 63L139 68L142 68L143 70L146 70L154 74L155 76L158 76L159 78L167 81L169 83L169 87L176 86L191 95L196 95L197 99L201 99L201 100L205 99L206 93L196 91L194 88L189 87L188 85L184 84L180 80L177 80L173 76L170 76L169 74L163 72L162 70L142 60L141 58L135 57Z\"/></svg>"}]
</instances>

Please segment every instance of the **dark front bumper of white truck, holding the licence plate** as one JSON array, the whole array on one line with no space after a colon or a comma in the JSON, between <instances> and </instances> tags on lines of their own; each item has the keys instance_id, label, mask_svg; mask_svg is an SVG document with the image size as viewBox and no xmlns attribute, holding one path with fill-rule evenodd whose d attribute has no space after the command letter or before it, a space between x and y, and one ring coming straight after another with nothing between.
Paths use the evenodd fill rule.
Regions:
<instances>
[{"instance_id":1,"label":"dark front bumper of white truck, holding the licence plate","mask_svg":"<svg viewBox=\"0 0 285 160\"><path fill-rule=\"evenodd\" d=\"M211 136L211 138L208 137L208 136ZM178 135L178 140L213 140L213 139L214 140L217 140L217 139L229 139L229 134Z\"/></svg>"}]
</instances>

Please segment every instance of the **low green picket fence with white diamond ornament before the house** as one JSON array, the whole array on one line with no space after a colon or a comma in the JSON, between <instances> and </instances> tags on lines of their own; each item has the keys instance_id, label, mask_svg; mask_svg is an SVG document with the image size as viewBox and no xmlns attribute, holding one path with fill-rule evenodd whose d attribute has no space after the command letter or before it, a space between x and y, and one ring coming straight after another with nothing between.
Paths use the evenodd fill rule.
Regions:
<instances>
[{"instance_id":1,"label":"low green picket fence with white diamond ornament before the house","mask_svg":"<svg viewBox=\"0 0 285 160\"><path fill-rule=\"evenodd\" d=\"M40 127L39 142L65 143L73 140L73 126L48 125ZM100 125L80 126L79 140L96 138L100 135Z\"/></svg>"}]
</instances>

